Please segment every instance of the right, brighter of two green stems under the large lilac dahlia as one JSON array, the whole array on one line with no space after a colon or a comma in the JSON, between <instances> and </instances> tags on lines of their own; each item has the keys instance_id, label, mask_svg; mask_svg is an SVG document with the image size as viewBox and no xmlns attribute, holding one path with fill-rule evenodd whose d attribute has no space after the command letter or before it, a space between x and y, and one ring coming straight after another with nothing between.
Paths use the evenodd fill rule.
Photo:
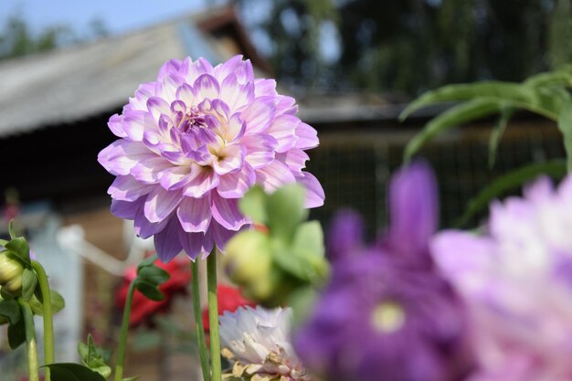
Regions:
<instances>
[{"instance_id":1,"label":"right, brighter of two green stems under the large lilac dahlia","mask_svg":"<svg viewBox=\"0 0 572 381\"><path fill-rule=\"evenodd\" d=\"M210 331L210 365L212 381L221 380L220 339L218 338L217 252L207 258L208 323Z\"/></svg>"}]
</instances>

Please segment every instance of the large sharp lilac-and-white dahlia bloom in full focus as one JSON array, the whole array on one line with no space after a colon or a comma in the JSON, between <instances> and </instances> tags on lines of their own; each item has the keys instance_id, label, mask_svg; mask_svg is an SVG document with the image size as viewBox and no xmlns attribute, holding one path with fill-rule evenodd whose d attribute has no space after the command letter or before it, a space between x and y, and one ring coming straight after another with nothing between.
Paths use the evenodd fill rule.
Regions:
<instances>
[{"instance_id":1,"label":"large sharp lilac-and-white dahlia bloom in full focus","mask_svg":"<svg viewBox=\"0 0 572 381\"><path fill-rule=\"evenodd\" d=\"M307 207L323 204L322 186L302 171L316 132L275 88L240 56L214 68L204 58L171 59L111 116L120 139L98 156L117 176L111 212L133 219L140 237L154 236L163 261L183 249L191 259L223 249L250 224L238 198L252 185L301 183Z\"/></svg>"}]
</instances>

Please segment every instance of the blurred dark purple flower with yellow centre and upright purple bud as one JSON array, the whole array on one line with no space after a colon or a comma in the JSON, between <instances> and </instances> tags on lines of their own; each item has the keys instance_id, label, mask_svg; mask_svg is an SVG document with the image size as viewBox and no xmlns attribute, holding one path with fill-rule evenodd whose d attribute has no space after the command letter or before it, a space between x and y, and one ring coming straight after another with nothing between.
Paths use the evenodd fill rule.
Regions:
<instances>
[{"instance_id":1,"label":"blurred dark purple flower with yellow centre and upright purple bud","mask_svg":"<svg viewBox=\"0 0 572 381\"><path fill-rule=\"evenodd\" d=\"M330 284L294 339L304 364L319 375L329 381L466 376L471 356L464 309L427 266L437 225L435 197L429 167L412 164L392 180L387 235L373 248L337 246L353 252L336 254ZM355 237L351 225L357 221L337 221L334 231L343 234L345 226Z\"/></svg>"}]
</instances>

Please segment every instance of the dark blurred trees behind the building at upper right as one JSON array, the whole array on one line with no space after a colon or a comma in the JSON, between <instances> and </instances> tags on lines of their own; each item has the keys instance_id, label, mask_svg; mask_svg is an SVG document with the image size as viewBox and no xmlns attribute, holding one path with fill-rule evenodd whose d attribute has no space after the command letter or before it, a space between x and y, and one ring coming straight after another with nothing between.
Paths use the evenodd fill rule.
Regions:
<instances>
[{"instance_id":1,"label":"dark blurred trees behind the building at upper right","mask_svg":"<svg viewBox=\"0 0 572 381\"><path fill-rule=\"evenodd\" d=\"M522 80L572 60L571 0L238 0L270 4L263 28L281 79L305 87L397 91L444 83ZM333 23L339 58L324 62Z\"/></svg>"}]
</instances>

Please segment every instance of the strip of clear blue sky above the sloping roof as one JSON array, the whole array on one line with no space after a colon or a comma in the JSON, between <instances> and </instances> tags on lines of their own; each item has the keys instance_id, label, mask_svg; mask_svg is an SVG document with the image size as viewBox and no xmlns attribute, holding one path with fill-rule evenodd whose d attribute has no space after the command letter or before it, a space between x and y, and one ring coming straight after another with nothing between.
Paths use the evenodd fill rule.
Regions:
<instances>
[{"instance_id":1,"label":"strip of clear blue sky above the sloping roof","mask_svg":"<svg viewBox=\"0 0 572 381\"><path fill-rule=\"evenodd\" d=\"M0 0L0 28L20 15L35 32L54 25L71 26L79 35L101 19L115 35L204 9L208 0ZM218 2L220 3L220 1Z\"/></svg>"}]
</instances>

